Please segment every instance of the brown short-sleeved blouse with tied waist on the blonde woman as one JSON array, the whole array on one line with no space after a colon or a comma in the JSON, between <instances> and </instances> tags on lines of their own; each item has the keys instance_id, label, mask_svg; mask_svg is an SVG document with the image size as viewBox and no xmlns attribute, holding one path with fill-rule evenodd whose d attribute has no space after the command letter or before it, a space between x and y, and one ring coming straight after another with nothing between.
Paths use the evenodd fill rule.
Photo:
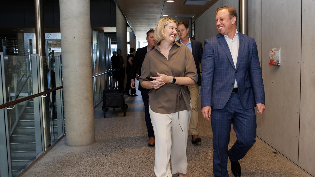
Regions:
<instances>
[{"instance_id":1,"label":"brown short-sleeved blouse with tied waist on the blonde woman","mask_svg":"<svg viewBox=\"0 0 315 177\"><path fill-rule=\"evenodd\" d=\"M146 54L141 68L140 84L143 81L153 81L150 77L158 77L157 72L174 77L190 77L196 83L198 80L192 52L176 41L169 50L169 59L161 53L159 44ZM190 92L187 86L166 83L158 89L150 90L149 104L152 111L156 113L190 111Z\"/></svg>"}]
</instances>

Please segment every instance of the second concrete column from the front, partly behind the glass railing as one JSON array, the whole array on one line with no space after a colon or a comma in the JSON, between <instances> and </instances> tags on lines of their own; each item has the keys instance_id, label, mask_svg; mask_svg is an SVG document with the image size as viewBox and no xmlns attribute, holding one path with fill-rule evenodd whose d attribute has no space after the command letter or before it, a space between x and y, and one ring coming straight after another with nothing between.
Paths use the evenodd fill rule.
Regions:
<instances>
[{"instance_id":1,"label":"second concrete column from the front, partly behind the glass railing","mask_svg":"<svg viewBox=\"0 0 315 177\"><path fill-rule=\"evenodd\" d=\"M116 39L117 39L117 50L121 49L121 56L125 61L125 67L127 66L127 21L119 8L116 6ZM125 73L126 74L126 73ZM123 88L126 86L127 75L125 75L125 81ZM119 83L120 84L120 83Z\"/></svg>"}]
</instances>

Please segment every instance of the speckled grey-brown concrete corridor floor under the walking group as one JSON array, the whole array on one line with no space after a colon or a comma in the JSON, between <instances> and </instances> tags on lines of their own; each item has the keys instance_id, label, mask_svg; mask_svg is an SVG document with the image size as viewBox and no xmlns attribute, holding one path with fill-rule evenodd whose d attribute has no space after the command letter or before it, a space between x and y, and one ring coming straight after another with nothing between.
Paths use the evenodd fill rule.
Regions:
<instances>
[{"instance_id":1,"label":"speckled grey-brown concrete corridor floor under the walking group","mask_svg":"<svg viewBox=\"0 0 315 177\"><path fill-rule=\"evenodd\" d=\"M147 146L144 107L139 90L137 94L139 94L137 97L125 97L129 106L126 117L123 117L123 111L118 108L115 111L109 110L106 118L103 118L102 105L95 108L95 143L71 147L66 145L66 138L63 138L23 177L155 176L154 147ZM198 101L200 103L200 100ZM189 177L211 177L213 176L211 125L202 118L200 109L198 128L202 138L199 144L193 145L190 143L191 136L188 137L187 174ZM236 135L231 131L230 147L235 141ZM240 163L242 177L309 176L259 138L256 138L255 145ZM233 177L230 163L228 171Z\"/></svg>"}]
</instances>

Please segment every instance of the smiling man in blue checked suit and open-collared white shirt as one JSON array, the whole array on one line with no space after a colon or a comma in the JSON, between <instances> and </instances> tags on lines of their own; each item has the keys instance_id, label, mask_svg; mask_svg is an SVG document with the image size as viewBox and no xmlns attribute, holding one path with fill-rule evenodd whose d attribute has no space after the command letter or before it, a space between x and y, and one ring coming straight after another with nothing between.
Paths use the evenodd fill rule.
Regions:
<instances>
[{"instance_id":1,"label":"smiling man in blue checked suit and open-collared white shirt","mask_svg":"<svg viewBox=\"0 0 315 177\"><path fill-rule=\"evenodd\" d=\"M220 34L204 41L201 78L203 117L210 120L213 132L213 172L228 177L227 157L234 176L241 176L238 160L254 145L257 112L266 109L265 91L255 39L236 29L233 7L216 9ZM231 123L237 141L228 150Z\"/></svg>"}]
</instances>

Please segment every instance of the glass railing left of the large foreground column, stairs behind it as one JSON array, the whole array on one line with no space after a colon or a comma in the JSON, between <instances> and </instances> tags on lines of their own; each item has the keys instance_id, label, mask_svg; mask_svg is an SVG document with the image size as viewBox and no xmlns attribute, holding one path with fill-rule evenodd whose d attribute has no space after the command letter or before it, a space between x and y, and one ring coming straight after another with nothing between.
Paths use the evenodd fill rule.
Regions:
<instances>
[{"instance_id":1,"label":"glass railing left of the large foreground column, stairs behind it","mask_svg":"<svg viewBox=\"0 0 315 177\"><path fill-rule=\"evenodd\" d=\"M61 60L3 53L0 59L0 174L16 176L65 132Z\"/></svg>"}]
</instances>

